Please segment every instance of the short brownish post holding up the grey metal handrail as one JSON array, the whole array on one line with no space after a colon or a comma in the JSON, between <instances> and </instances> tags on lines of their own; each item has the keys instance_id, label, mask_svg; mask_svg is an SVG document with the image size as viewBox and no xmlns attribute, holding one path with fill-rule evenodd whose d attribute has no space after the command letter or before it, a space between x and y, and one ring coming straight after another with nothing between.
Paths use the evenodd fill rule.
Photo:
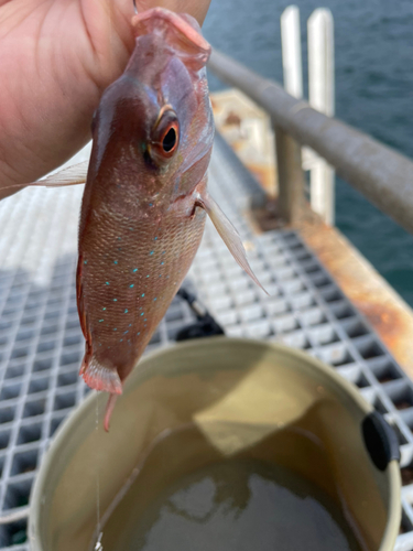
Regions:
<instances>
[{"instance_id":1,"label":"short brownish post holding up the grey metal handrail","mask_svg":"<svg viewBox=\"0 0 413 551\"><path fill-rule=\"evenodd\" d=\"M279 175L279 215L286 224L294 224L300 218L304 203L301 145L274 122L272 127Z\"/></svg>"}]
</instances>

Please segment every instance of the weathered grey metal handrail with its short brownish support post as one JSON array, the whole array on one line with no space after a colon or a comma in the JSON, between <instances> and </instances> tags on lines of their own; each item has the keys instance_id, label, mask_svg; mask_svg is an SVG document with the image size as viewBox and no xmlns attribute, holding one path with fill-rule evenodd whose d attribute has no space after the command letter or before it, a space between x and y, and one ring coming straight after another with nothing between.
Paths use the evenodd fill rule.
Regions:
<instances>
[{"instance_id":1,"label":"weathered grey metal handrail with its short brownish support post","mask_svg":"<svg viewBox=\"0 0 413 551\"><path fill-rule=\"evenodd\" d=\"M239 88L271 117L275 131L280 216L300 218L304 204L301 145L308 145L337 174L413 234L413 161L370 136L316 111L276 83L213 51L208 68Z\"/></svg>"}]
</instances>

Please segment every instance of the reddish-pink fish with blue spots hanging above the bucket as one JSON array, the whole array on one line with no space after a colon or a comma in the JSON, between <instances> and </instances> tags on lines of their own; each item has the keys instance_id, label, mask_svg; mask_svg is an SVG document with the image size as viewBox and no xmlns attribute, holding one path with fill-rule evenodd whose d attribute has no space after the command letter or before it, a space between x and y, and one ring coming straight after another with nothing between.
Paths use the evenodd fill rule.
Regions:
<instances>
[{"instance_id":1,"label":"reddish-pink fish with blue spots hanging above the bucket","mask_svg":"<svg viewBox=\"0 0 413 551\"><path fill-rule=\"evenodd\" d=\"M207 191L210 46L187 14L156 8L135 15L133 26L130 62L94 117L78 241L80 375L110 392L106 430L124 379L191 267L207 214L258 283L239 235ZM80 183L85 172L76 165L39 184Z\"/></svg>"}]
</instances>

